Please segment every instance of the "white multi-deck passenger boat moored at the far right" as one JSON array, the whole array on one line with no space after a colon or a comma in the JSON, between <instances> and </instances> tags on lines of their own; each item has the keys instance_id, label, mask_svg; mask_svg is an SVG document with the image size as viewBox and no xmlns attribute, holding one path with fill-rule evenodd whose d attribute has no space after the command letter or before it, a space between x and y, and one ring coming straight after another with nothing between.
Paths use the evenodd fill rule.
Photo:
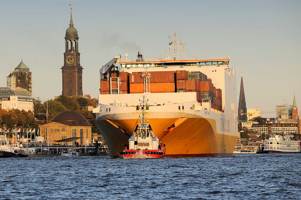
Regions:
<instances>
[{"instance_id":1,"label":"white multi-deck passenger boat moored at the far right","mask_svg":"<svg viewBox=\"0 0 301 200\"><path fill-rule=\"evenodd\" d=\"M272 135L264 142L264 153L301 153L300 141L289 136Z\"/></svg>"}]
</instances>

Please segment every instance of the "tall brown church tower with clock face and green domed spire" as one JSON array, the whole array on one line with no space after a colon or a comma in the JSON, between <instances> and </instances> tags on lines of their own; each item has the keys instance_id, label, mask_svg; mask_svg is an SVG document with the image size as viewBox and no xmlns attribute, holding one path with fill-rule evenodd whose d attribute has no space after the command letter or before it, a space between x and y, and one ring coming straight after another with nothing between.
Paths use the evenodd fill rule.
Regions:
<instances>
[{"instance_id":1,"label":"tall brown church tower with clock face and green domed spire","mask_svg":"<svg viewBox=\"0 0 301 200\"><path fill-rule=\"evenodd\" d=\"M82 96L82 67L80 66L80 53L78 52L78 35L73 27L72 7L69 28L65 35L65 53L63 75L63 91L66 96Z\"/></svg>"}]
</instances>

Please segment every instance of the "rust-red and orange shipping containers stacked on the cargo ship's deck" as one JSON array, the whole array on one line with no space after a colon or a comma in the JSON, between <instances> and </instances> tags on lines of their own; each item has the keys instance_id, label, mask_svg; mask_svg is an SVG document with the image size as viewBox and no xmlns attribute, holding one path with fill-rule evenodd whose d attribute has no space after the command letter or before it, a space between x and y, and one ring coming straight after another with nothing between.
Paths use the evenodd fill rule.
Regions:
<instances>
[{"instance_id":1,"label":"rust-red and orange shipping containers stacked on the cargo ship's deck","mask_svg":"<svg viewBox=\"0 0 301 200\"><path fill-rule=\"evenodd\" d=\"M144 72L119 72L119 92L126 93L143 93L144 79L141 77ZM212 108L222 110L222 90L213 86L212 80L201 72L189 72L185 70L178 71L156 71L150 72L150 91L153 93L161 92L196 92L197 101L211 98ZM111 73L110 77L116 77L116 73ZM116 88L117 82L112 79L101 81L101 94L109 94L110 87ZM113 91L117 94L117 91Z\"/></svg>"}]
</instances>

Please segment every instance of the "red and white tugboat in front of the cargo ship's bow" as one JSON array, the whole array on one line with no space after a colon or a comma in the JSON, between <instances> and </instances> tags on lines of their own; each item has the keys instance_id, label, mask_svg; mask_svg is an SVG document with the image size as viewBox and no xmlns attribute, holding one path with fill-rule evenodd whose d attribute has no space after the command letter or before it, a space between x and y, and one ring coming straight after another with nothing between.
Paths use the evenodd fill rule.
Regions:
<instances>
[{"instance_id":1,"label":"red and white tugboat in front of the cargo ship's bow","mask_svg":"<svg viewBox=\"0 0 301 200\"><path fill-rule=\"evenodd\" d=\"M142 108L142 121L139 121L133 135L129 139L129 143L125 145L123 152L120 152L122 158L162 158L165 156L165 144L159 142L154 135L151 125L145 122L144 101Z\"/></svg>"}]
</instances>

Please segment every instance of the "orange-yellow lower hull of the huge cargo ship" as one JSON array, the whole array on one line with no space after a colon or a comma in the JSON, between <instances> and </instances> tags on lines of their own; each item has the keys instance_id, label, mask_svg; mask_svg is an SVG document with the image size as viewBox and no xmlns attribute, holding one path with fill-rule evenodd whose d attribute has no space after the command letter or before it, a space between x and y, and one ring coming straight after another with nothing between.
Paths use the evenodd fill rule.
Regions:
<instances>
[{"instance_id":1,"label":"orange-yellow lower hull of the huge cargo ship","mask_svg":"<svg viewBox=\"0 0 301 200\"><path fill-rule=\"evenodd\" d=\"M104 117L104 116L103 116ZM96 120L111 157L118 157L128 143L138 119ZM147 118L155 136L166 145L166 157L231 156L237 136L218 134L216 121L198 117Z\"/></svg>"}]
</instances>

